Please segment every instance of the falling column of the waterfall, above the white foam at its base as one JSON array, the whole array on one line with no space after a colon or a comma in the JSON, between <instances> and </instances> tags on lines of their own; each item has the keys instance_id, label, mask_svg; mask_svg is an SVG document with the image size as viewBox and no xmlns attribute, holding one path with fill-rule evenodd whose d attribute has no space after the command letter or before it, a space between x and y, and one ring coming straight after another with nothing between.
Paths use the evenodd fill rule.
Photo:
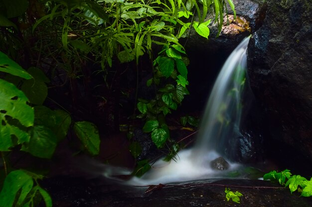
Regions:
<instances>
[{"instance_id":1,"label":"falling column of the waterfall, above the white foam at its base","mask_svg":"<svg viewBox=\"0 0 312 207\"><path fill-rule=\"evenodd\" d=\"M207 150L215 150L222 156L233 154L233 149L227 147L227 143L229 139L240 135L249 39L250 36L246 37L231 53L214 83L197 142L192 149L195 157L201 156Z\"/></svg>"}]
</instances>

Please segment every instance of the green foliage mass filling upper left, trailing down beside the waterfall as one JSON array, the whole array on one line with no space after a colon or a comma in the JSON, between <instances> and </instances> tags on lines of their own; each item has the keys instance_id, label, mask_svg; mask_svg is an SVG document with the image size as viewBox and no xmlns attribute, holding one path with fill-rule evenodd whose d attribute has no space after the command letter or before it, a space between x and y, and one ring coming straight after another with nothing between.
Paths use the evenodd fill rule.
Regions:
<instances>
[{"instance_id":1,"label":"green foliage mass filling upper left, trailing down beside the waterfall","mask_svg":"<svg viewBox=\"0 0 312 207\"><path fill-rule=\"evenodd\" d=\"M227 1L234 10L232 0ZM199 6L198 2L202 5ZM21 77L0 79L0 133L4 140L0 142L0 150L11 150L20 144L21 150L50 158L57 143L65 138L73 125L84 148L92 155L98 154L100 139L95 125L84 121L72 124L69 112L42 106L48 97L49 83L40 68L46 65L43 60L51 61L48 65L55 66L50 68L50 78L60 69L61 73L65 71L70 86L84 76L83 66L94 61L101 65L97 72L103 77L105 89L112 92L119 88L112 87L115 80L109 76L112 73L118 76L117 71L122 69L120 64L134 62L138 66L140 58L147 54L153 70L153 77L147 85L155 86L156 96L151 100L138 99L137 111L141 114L137 118L144 119L143 130L151 134L156 146L161 148L167 143L171 147L167 157L174 157L179 146L170 140L165 118L189 93L188 60L179 38L186 37L190 28L208 38L210 20L205 20L206 14L214 11L215 21L220 19L222 23L225 9L224 0L198 2L34 0L28 3L28 0L0 0L0 26L4 27L0 35L6 40L0 43L0 47L8 48L6 54L15 60L30 59L24 61L29 61L29 66L38 67L25 71L0 53L0 71ZM194 11L199 17L198 22L190 20ZM155 57L153 50L157 45L163 48ZM75 94L75 91L70 92ZM14 107L9 108L11 106ZM186 122L196 125L191 118ZM132 145L134 156L138 156L139 148L138 144ZM149 169L148 165L144 166L142 169Z\"/></svg>"}]
</instances>

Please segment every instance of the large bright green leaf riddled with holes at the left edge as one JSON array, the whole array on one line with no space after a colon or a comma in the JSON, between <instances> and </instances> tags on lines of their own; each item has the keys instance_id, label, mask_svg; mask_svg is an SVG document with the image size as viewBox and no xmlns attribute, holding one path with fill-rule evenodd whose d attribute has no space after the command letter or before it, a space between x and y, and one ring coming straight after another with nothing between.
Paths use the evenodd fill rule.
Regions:
<instances>
[{"instance_id":1,"label":"large bright green leaf riddled with holes at the left edge","mask_svg":"<svg viewBox=\"0 0 312 207\"><path fill-rule=\"evenodd\" d=\"M27 102L27 97L15 85L0 79L0 151L7 151L13 146L11 135L18 139L18 143L29 140L26 132L8 123L5 118L16 119L24 127L33 126L34 112Z\"/></svg>"}]
</instances>

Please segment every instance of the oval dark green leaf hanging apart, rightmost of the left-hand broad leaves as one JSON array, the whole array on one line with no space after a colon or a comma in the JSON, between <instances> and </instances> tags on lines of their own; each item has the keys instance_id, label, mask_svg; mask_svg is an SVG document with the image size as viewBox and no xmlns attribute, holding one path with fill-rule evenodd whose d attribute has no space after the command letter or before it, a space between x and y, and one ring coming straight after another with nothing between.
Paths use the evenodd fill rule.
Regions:
<instances>
[{"instance_id":1,"label":"oval dark green leaf hanging apart, rightmost of the left-hand broad leaves","mask_svg":"<svg viewBox=\"0 0 312 207\"><path fill-rule=\"evenodd\" d=\"M98 128L91 122L82 121L74 124L74 131L84 147L91 155L100 152L100 137Z\"/></svg>"}]
</instances>

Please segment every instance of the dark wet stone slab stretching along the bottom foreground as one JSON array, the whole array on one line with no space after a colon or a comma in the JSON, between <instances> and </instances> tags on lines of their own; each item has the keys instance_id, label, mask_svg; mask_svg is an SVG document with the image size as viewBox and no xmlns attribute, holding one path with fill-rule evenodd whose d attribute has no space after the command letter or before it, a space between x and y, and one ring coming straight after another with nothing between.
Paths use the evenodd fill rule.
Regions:
<instances>
[{"instance_id":1,"label":"dark wet stone slab stretching along the bottom foreground","mask_svg":"<svg viewBox=\"0 0 312 207\"><path fill-rule=\"evenodd\" d=\"M153 186L149 193L149 187L107 184L98 178L56 177L41 185L54 207L312 207L312 198L261 180L192 181ZM226 187L243 194L240 204L226 201Z\"/></svg>"}]
</instances>

